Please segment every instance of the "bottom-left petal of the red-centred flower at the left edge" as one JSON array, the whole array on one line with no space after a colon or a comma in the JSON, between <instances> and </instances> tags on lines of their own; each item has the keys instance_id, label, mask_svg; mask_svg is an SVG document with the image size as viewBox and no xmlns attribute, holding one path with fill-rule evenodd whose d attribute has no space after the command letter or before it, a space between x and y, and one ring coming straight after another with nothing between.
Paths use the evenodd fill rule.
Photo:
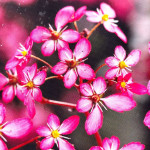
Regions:
<instances>
[{"instance_id":1,"label":"bottom-left petal of the red-centred flower at the left edge","mask_svg":"<svg viewBox=\"0 0 150 150\"><path fill-rule=\"evenodd\" d=\"M13 85L8 85L4 88L2 92L2 100L5 103L11 102L15 97L15 87Z\"/></svg>"}]
</instances>

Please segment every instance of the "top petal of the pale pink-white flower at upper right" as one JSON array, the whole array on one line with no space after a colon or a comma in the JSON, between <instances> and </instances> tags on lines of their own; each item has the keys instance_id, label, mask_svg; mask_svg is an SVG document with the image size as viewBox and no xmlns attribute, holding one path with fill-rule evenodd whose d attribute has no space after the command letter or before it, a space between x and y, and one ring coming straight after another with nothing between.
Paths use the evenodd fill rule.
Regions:
<instances>
[{"instance_id":1,"label":"top petal of the pale pink-white flower at upper right","mask_svg":"<svg viewBox=\"0 0 150 150\"><path fill-rule=\"evenodd\" d=\"M114 9L111 8L111 6L109 6L106 3L101 3L100 4L100 9L103 12L103 14L107 14L109 16L109 18L115 18L116 17L116 13L114 11Z\"/></svg>"}]
</instances>

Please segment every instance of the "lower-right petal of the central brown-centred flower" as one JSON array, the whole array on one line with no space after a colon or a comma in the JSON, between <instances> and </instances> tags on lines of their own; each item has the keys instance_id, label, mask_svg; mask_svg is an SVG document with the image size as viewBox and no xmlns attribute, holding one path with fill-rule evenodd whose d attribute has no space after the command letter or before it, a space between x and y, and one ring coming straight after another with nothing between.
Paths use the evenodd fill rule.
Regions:
<instances>
[{"instance_id":1,"label":"lower-right petal of the central brown-centred flower","mask_svg":"<svg viewBox=\"0 0 150 150\"><path fill-rule=\"evenodd\" d=\"M92 80L93 78L95 78L95 72L88 64L79 64L77 66L77 72L82 79Z\"/></svg>"}]
</instances>

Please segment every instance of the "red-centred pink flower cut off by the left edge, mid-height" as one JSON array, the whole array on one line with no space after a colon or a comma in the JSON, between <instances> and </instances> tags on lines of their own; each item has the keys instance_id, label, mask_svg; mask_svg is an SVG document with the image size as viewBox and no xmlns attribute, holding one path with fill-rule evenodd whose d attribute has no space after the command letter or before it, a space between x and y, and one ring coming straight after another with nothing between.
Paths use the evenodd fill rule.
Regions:
<instances>
[{"instance_id":1,"label":"red-centred pink flower cut off by the left edge, mid-height","mask_svg":"<svg viewBox=\"0 0 150 150\"><path fill-rule=\"evenodd\" d=\"M21 86L18 83L18 75L16 68L7 71L8 78L0 73L0 90L2 92L2 100L5 103L11 102L15 95L22 100L22 94L20 95L19 89Z\"/></svg>"}]
</instances>

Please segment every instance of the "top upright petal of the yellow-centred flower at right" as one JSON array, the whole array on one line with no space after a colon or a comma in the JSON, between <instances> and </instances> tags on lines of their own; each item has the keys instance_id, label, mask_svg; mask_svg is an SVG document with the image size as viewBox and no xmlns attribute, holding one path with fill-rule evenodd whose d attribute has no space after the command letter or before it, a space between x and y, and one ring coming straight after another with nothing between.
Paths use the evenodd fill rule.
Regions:
<instances>
[{"instance_id":1,"label":"top upright petal of the yellow-centred flower at right","mask_svg":"<svg viewBox=\"0 0 150 150\"><path fill-rule=\"evenodd\" d=\"M122 46L116 46L115 48L115 56L120 60L123 61L126 57L126 51Z\"/></svg>"}]
</instances>

